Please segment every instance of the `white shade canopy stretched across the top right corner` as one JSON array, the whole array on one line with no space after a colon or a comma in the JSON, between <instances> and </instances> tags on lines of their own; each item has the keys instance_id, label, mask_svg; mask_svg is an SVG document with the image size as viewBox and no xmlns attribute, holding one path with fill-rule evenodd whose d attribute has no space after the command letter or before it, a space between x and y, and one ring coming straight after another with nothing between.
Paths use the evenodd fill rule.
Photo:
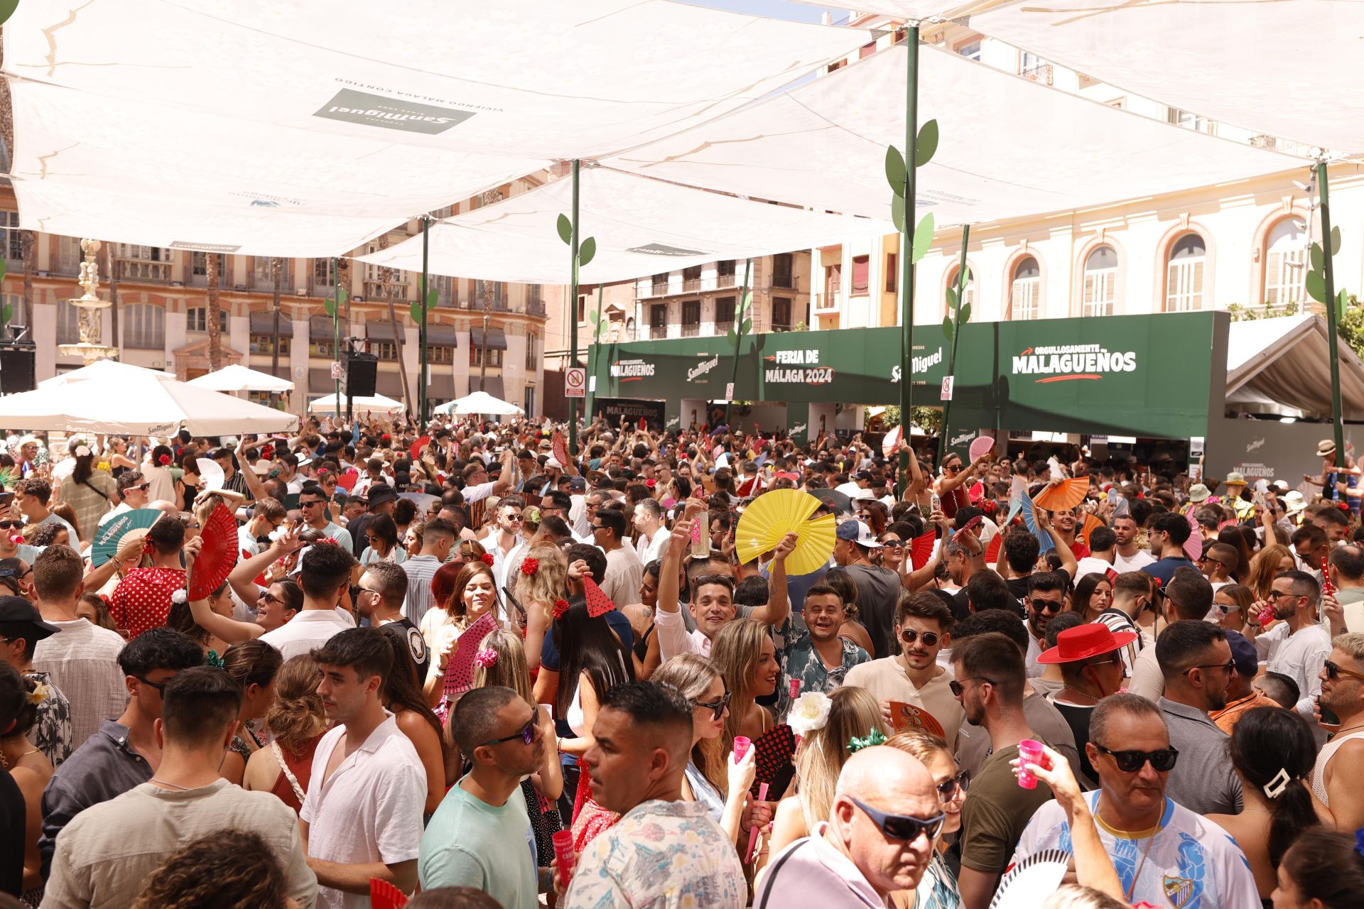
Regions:
<instances>
[{"instance_id":1,"label":"white shade canopy stretched across the top right corner","mask_svg":"<svg viewBox=\"0 0 1364 909\"><path fill-rule=\"evenodd\" d=\"M902 5L872 1L883 11ZM970 16L970 26L1183 110L1364 151L1364 94L1354 87L1360 3L1012 0Z\"/></svg>"}]
</instances>

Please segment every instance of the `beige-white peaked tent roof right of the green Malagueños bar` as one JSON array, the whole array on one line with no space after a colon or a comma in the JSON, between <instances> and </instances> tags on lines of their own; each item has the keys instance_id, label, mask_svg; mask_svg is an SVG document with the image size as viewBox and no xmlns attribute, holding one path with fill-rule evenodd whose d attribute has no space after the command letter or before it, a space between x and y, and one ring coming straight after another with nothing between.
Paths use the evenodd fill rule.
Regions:
<instances>
[{"instance_id":1,"label":"beige-white peaked tent roof right of the green Malague\u00f1os bar","mask_svg":"<svg viewBox=\"0 0 1364 909\"><path fill-rule=\"evenodd\" d=\"M1337 350L1344 416L1364 420L1364 363L1339 338ZM1226 402L1330 414L1326 320L1299 315L1233 322L1226 345Z\"/></svg>"}]
</instances>

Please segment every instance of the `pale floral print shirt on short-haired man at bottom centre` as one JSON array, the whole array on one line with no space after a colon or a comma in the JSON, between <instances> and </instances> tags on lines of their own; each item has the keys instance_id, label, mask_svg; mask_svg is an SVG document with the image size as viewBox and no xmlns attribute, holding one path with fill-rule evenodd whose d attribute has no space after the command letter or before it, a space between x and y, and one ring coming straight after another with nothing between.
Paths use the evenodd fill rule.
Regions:
<instances>
[{"instance_id":1,"label":"pale floral print shirt on short-haired man at bottom centre","mask_svg":"<svg viewBox=\"0 0 1364 909\"><path fill-rule=\"evenodd\" d=\"M578 856L567 909L743 909L739 853L700 801L645 801Z\"/></svg>"}]
</instances>

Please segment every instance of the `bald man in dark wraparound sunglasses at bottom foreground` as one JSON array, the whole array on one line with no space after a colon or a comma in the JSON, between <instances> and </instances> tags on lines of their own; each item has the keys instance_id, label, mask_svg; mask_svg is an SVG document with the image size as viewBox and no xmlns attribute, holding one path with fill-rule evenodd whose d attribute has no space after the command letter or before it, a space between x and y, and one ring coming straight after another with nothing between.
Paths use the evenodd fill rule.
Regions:
<instances>
[{"instance_id":1,"label":"bald man in dark wraparound sunglasses at bottom foreground","mask_svg":"<svg viewBox=\"0 0 1364 909\"><path fill-rule=\"evenodd\" d=\"M933 777L917 758L863 748L843 765L829 820L772 859L753 905L880 909L891 893L918 887L943 819Z\"/></svg>"}]
</instances>

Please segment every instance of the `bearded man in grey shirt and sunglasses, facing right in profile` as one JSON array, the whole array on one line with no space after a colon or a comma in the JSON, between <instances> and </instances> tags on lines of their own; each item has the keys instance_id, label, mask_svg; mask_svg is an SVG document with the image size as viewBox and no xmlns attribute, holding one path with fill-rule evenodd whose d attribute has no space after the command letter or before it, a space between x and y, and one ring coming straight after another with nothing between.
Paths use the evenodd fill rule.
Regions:
<instances>
[{"instance_id":1,"label":"bearded man in grey shirt and sunglasses, facing right in profile","mask_svg":"<svg viewBox=\"0 0 1364 909\"><path fill-rule=\"evenodd\" d=\"M1209 713L1226 707L1226 685L1236 672L1226 632L1210 621L1180 620L1155 639L1155 660L1165 676L1161 713L1180 769L1165 792L1200 815L1241 811L1241 781L1232 769L1226 733Z\"/></svg>"}]
</instances>

